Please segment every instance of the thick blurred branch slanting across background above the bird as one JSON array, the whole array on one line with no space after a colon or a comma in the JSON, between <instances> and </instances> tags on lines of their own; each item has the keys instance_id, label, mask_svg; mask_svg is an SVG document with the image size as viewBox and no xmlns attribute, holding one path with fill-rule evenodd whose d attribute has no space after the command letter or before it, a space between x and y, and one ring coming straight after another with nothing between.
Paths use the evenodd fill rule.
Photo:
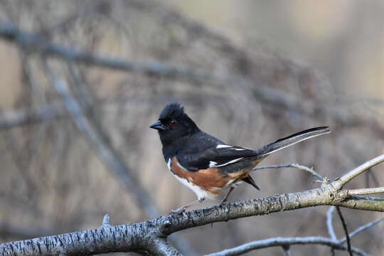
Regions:
<instances>
[{"instance_id":1,"label":"thick blurred branch slanting across background above the bird","mask_svg":"<svg viewBox=\"0 0 384 256\"><path fill-rule=\"evenodd\" d=\"M326 104L326 102L321 104L311 102L310 100L298 98L288 92L276 90L272 87L260 84L255 86L255 83L249 79L247 80L239 77L223 78L212 75L206 70L181 68L179 65L176 67L155 61L151 63L136 63L126 59L96 55L90 52L51 43L37 34L20 31L14 24L6 21L0 21L0 37L18 44L18 46L29 52L41 53L46 56L75 61L87 65L112 68L114 70L139 72L148 75L161 75L171 79L186 79L195 83L204 82L219 86L225 84L235 86L240 85L249 88L252 90L254 97L257 97L258 100L262 100L270 105L277 105L288 110L295 110L297 113L308 116L324 113L333 117L341 124L354 126L363 124L377 130L378 136L383 134L380 125L375 123L372 119L367 119L349 112L341 113L338 107Z\"/></svg>"}]
</instances>

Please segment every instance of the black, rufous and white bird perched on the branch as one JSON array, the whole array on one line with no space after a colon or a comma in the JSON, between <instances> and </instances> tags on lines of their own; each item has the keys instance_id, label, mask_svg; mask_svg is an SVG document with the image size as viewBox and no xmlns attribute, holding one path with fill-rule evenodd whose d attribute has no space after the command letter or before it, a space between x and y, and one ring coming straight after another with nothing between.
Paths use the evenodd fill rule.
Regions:
<instances>
[{"instance_id":1,"label":"black, rufous and white bird perched on the branch","mask_svg":"<svg viewBox=\"0 0 384 256\"><path fill-rule=\"evenodd\" d=\"M260 149L226 144L198 128L177 102L166 105L159 119L149 126L159 133L166 165L171 174L196 193L197 199L171 213L183 213L187 208L215 199L224 188L228 193L220 203L226 203L233 189L242 181L260 190L250 171L270 154L306 139L329 134L329 127L315 127L289 135Z\"/></svg>"}]
</instances>

